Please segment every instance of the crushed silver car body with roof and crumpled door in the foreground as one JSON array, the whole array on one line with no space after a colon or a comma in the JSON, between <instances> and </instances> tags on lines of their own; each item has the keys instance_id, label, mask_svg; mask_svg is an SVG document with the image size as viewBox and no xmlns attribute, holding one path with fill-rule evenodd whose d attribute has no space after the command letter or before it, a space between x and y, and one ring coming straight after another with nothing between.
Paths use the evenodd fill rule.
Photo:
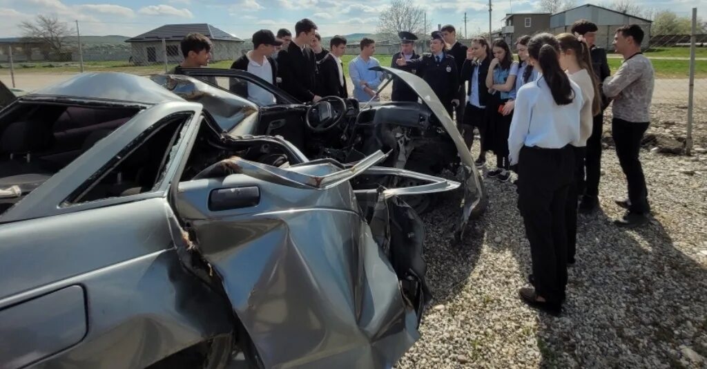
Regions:
<instances>
[{"instance_id":1,"label":"crushed silver car body with roof and crumpled door in the foreground","mask_svg":"<svg viewBox=\"0 0 707 369\"><path fill-rule=\"evenodd\" d=\"M222 108L87 73L0 110L4 367L390 368L418 339L424 229L402 198L460 183L379 150L310 160L234 135L249 101Z\"/></svg>"}]
</instances>

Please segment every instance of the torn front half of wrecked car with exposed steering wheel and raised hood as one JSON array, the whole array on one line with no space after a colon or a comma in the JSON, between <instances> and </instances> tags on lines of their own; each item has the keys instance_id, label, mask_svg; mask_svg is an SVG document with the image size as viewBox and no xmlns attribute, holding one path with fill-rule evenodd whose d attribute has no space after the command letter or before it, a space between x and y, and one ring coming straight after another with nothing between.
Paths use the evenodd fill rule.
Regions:
<instances>
[{"instance_id":1,"label":"torn front half of wrecked car with exposed steering wheel and raised hood","mask_svg":"<svg viewBox=\"0 0 707 369\"><path fill-rule=\"evenodd\" d=\"M248 72L233 69L184 68L187 76L153 76L156 83L187 101L199 102L233 135L279 135L305 156L357 161L381 150L390 153L380 163L431 176L443 171L460 174L460 216L450 236L459 242L469 219L486 209L486 190L468 147L430 86L414 74L376 67L388 81L398 79L415 91L420 102L359 103L354 98L328 96L303 104L285 91ZM194 78L189 78L189 76ZM205 83L209 82L209 83ZM275 103L257 106L253 119L234 115L231 106L249 98L255 86L271 93ZM382 84L381 89L385 87ZM255 104L255 102L254 102ZM422 182L398 176L359 176L357 186L403 187ZM417 212L431 208L433 195L407 196Z\"/></svg>"}]
</instances>

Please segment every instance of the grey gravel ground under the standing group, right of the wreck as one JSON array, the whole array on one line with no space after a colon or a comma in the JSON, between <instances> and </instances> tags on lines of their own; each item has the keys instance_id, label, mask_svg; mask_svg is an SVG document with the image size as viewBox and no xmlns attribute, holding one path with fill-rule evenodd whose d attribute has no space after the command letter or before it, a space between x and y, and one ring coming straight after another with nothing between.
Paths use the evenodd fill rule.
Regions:
<instances>
[{"instance_id":1,"label":"grey gravel ground under the standing group, right of the wreck","mask_svg":"<svg viewBox=\"0 0 707 369\"><path fill-rule=\"evenodd\" d=\"M674 112L665 114L654 118ZM626 182L605 149L602 211L580 215L559 318L518 297L530 248L515 186L486 180L489 210L456 247L445 239L456 200L441 198L423 215L435 300L397 368L707 368L707 154L641 155L650 225L612 225L623 214L612 199L625 196Z\"/></svg>"}]
</instances>

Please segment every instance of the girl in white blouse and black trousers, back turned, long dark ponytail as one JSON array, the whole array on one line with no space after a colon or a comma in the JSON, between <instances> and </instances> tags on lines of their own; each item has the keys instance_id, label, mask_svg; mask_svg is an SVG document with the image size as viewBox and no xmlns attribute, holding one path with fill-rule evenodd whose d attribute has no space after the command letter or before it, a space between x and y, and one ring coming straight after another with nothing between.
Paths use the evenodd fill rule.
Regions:
<instances>
[{"instance_id":1,"label":"girl in white blouse and black trousers, back turned, long dark ponytail","mask_svg":"<svg viewBox=\"0 0 707 369\"><path fill-rule=\"evenodd\" d=\"M530 62L541 76L518 90L510 126L510 163L518 165L518 208L530 241L534 288L524 302L559 315L567 285L565 205L575 165L571 143L580 137L579 86L560 67L559 42L549 33L528 42Z\"/></svg>"}]
</instances>

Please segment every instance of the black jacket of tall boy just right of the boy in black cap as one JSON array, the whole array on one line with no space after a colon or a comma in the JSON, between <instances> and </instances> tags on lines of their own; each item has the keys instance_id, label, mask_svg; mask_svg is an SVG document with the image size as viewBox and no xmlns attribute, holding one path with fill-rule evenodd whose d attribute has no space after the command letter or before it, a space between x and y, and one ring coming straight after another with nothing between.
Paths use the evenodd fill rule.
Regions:
<instances>
[{"instance_id":1,"label":"black jacket of tall boy just right of the boy in black cap","mask_svg":"<svg viewBox=\"0 0 707 369\"><path fill-rule=\"evenodd\" d=\"M299 101L306 103L315 96L317 61L312 48L300 49L295 42L290 42L287 50L280 50L277 55L281 87Z\"/></svg>"}]
</instances>

